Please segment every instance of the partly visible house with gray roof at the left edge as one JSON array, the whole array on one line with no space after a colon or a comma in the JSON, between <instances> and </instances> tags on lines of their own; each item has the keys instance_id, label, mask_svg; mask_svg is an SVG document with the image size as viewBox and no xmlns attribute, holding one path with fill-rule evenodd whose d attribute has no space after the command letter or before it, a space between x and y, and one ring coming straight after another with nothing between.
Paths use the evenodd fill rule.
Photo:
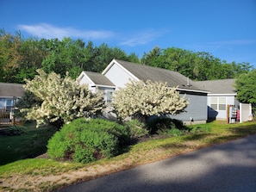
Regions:
<instances>
[{"instance_id":1,"label":"partly visible house with gray roof at the left edge","mask_svg":"<svg viewBox=\"0 0 256 192\"><path fill-rule=\"evenodd\" d=\"M0 108L11 110L15 102L24 94L22 84L0 83Z\"/></svg>"}]
</instances>

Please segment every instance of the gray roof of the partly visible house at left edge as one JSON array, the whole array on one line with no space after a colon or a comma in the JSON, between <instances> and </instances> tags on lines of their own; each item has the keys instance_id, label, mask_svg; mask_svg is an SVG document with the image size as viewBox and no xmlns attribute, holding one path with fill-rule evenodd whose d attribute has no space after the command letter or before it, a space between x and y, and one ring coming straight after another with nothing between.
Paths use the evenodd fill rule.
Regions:
<instances>
[{"instance_id":1,"label":"gray roof of the partly visible house at left edge","mask_svg":"<svg viewBox=\"0 0 256 192\"><path fill-rule=\"evenodd\" d=\"M0 83L0 96L22 97L24 91L23 84Z\"/></svg>"}]
</instances>

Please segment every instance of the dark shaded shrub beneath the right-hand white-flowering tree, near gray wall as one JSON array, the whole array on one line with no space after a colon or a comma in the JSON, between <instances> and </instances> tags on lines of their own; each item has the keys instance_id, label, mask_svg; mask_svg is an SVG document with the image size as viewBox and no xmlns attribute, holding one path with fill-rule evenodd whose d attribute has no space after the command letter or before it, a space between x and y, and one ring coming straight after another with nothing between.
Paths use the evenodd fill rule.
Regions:
<instances>
[{"instance_id":1,"label":"dark shaded shrub beneath the right-hand white-flowering tree, near gray wall","mask_svg":"<svg viewBox=\"0 0 256 192\"><path fill-rule=\"evenodd\" d=\"M169 132L172 128L183 130L185 127L182 121L165 117L155 117L147 121L147 128L149 133L155 134Z\"/></svg>"}]
</instances>

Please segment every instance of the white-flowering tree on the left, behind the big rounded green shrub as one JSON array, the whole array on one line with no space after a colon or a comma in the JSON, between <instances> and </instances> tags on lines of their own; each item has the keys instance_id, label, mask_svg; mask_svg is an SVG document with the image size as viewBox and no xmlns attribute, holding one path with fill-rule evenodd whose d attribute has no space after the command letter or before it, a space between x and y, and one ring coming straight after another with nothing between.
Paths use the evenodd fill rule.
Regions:
<instances>
[{"instance_id":1,"label":"white-flowering tree on the left, behind the big rounded green shrub","mask_svg":"<svg viewBox=\"0 0 256 192\"><path fill-rule=\"evenodd\" d=\"M60 77L52 72L38 70L33 80L26 80L25 90L41 99L41 105L22 108L28 120L37 121L37 125L59 121L68 123L79 117L90 117L101 113L103 95L93 94L87 86L80 86L71 77ZM60 125L61 126L61 125Z\"/></svg>"}]
</instances>

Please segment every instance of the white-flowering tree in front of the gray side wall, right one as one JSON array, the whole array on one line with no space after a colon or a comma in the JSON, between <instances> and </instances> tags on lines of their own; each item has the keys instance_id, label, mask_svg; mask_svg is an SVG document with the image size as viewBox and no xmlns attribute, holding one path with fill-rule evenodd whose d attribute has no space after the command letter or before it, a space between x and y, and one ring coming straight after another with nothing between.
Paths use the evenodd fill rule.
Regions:
<instances>
[{"instance_id":1,"label":"white-flowering tree in front of the gray side wall, right one","mask_svg":"<svg viewBox=\"0 0 256 192\"><path fill-rule=\"evenodd\" d=\"M122 119L130 116L145 121L151 115L177 115L184 111L188 102L184 96L179 96L176 88L169 88L166 83L139 81L116 90L113 105Z\"/></svg>"}]
</instances>

